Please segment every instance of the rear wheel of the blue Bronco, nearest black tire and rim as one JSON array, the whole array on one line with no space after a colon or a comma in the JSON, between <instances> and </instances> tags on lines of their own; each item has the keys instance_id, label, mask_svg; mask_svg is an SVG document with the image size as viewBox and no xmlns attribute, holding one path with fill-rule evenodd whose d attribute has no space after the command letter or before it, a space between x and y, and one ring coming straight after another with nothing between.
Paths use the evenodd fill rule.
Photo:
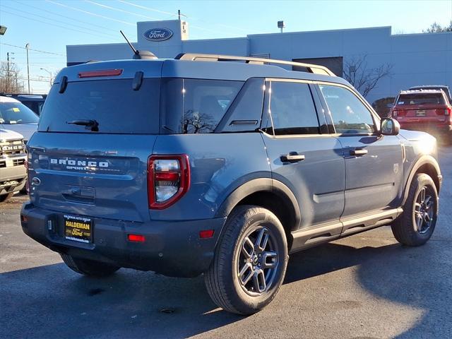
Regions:
<instances>
[{"instance_id":1,"label":"rear wheel of the blue Bronco, nearest black tire and rim","mask_svg":"<svg viewBox=\"0 0 452 339\"><path fill-rule=\"evenodd\" d=\"M213 302L222 309L236 314L254 314L278 293L287 261L287 239L276 215L258 206L238 206L227 218L204 281ZM244 266L248 267L241 275L239 270ZM242 277L247 270L251 278L247 274L248 280L244 280L248 283L244 283Z\"/></svg>"}]
</instances>

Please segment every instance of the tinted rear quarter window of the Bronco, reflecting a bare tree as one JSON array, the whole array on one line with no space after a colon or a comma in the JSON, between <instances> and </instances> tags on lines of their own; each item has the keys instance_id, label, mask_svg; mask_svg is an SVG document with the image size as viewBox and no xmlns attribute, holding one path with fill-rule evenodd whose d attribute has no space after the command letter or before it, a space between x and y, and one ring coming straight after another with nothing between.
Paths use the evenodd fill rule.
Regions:
<instances>
[{"instance_id":1,"label":"tinted rear quarter window of the Bronco, reflecting a bare tree","mask_svg":"<svg viewBox=\"0 0 452 339\"><path fill-rule=\"evenodd\" d=\"M167 78L162 85L162 129L213 133L243 81Z\"/></svg>"}]
</instances>

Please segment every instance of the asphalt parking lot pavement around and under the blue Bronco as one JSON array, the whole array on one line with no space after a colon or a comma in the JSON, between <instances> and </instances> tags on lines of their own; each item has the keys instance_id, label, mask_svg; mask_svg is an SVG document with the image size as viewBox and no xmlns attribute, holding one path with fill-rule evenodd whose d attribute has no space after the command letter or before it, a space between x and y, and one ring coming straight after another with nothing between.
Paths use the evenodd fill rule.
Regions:
<instances>
[{"instance_id":1,"label":"asphalt parking lot pavement around and under the blue Bronco","mask_svg":"<svg viewBox=\"0 0 452 339\"><path fill-rule=\"evenodd\" d=\"M452 338L452 148L434 236L400 246L389 227L290 258L254 316L210 301L203 278L122 269L85 278L23 234L16 196L0 206L0 338Z\"/></svg>"}]
</instances>

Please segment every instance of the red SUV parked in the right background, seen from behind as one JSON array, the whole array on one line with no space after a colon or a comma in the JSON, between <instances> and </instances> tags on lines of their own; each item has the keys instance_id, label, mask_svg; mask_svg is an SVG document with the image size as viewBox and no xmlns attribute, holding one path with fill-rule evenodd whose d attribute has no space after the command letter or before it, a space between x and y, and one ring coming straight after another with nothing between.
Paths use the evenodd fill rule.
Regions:
<instances>
[{"instance_id":1,"label":"red SUV parked in the right background, seen from behind","mask_svg":"<svg viewBox=\"0 0 452 339\"><path fill-rule=\"evenodd\" d=\"M428 131L452 143L452 105L444 90L403 90L391 116L403 129Z\"/></svg>"}]
</instances>

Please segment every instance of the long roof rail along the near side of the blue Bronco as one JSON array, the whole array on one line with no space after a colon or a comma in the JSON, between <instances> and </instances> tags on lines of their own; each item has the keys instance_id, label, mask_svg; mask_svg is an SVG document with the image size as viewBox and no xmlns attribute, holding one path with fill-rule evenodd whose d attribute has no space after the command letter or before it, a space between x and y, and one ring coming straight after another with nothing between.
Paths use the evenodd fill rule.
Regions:
<instances>
[{"instance_id":1,"label":"long roof rail along the near side of the blue Bronco","mask_svg":"<svg viewBox=\"0 0 452 339\"><path fill-rule=\"evenodd\" d=\"M295 61L285 61L285 60L275 60L266 58L255 58L255 57L236 57L232 55L221 55L221 54L198 54L198 53L181 53L177 55L174 59L178 60L191 60L191 61L245 61L246 64L280 64L280 65L291 65L304 67L309 73L323 74L325 76L335 76L335 73L330 71L325 66L314 65L314 64L304 64L302 62Z\"/></svg>"}]
</instances>

